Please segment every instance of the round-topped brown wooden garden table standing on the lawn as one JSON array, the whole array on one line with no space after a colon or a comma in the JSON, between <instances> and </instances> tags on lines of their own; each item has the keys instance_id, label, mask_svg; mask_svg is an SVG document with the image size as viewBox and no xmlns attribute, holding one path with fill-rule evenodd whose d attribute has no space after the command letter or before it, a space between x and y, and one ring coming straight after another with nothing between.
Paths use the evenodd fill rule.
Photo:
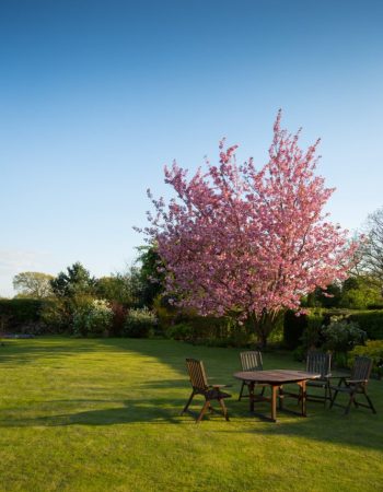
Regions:
<instances>
[{"instance_id":1,"label":"round-topped brown wooden garden table standing on the lawn","mask_svg":"<svg viewBox=\"0 0 383 492\"><path fill-rule=\"evenodd\" d=\"M283 399L292 397L300 400L302 417L306 417L306 382L309 379L317 379L321 374L306 373L304 371L290 370L272 370L272 371L242 371L235 373L234 377L240 380L245 380L249 389L249 410L254 413L255 401L270 401L271 417L259 414L272 422L277 421L277 398L279 400L279 409L283 409ZM295 383L299 386L299 394L283 391L283 385ZM255 395L254 388L257 384L268 385L271 389L271 396ZM298 413L298 412L293 412Z\"/></svg>"}]
</instances>

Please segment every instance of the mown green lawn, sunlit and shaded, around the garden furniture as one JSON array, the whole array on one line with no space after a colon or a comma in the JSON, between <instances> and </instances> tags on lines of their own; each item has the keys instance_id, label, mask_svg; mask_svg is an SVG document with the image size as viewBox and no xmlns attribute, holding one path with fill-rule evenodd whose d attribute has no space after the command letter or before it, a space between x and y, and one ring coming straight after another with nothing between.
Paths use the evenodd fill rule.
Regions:
<instances>
[{"instance_id":1,"label":"mown green lawn, sunlit and shaded, around the garden furniture","mask_svg":"<svg viewBox=\"0 0 383 492\"><path fill-rule=\"evenodd\" d=\"M233 384L230 422L178 417L189 395L185 356ZM302 368L291 354L266 354L264 365ZM281 413L269 423L236 401L237 370L239 350L167 340L7 341L0 490L383 490L383 382L370 385L378 415L360 408L345 418L311 402L307 419Z\"/></svg>"}]
</instances>

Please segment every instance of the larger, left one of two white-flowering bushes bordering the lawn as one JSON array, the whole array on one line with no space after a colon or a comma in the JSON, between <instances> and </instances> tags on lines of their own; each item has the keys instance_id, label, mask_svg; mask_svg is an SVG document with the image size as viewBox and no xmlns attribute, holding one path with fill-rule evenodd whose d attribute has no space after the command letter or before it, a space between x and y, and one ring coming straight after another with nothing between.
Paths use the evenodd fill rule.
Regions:
<instances>
[{"instance_id":1,"label":"larger, left one of two white-flowering bushes bordering the lawn","mask_svg":"<svg viewBox=\"0 0 383 492\"><path fill-rule=\"evenodd\" d=\"M73 314L73 332L82 337L108 335L113 309L105 300L93 300L78 307Z\"/></svg>"}]
</instances>

